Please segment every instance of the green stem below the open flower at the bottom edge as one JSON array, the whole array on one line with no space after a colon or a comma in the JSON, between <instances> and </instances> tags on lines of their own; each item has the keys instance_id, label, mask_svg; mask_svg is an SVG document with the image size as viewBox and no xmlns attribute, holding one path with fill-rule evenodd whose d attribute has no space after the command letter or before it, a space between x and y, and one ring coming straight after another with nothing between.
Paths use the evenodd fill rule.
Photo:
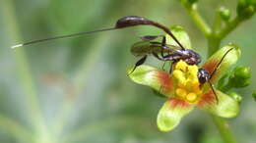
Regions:
<instances>
[{"instance_id":1,"label":"green stem below the open flower at the bottom edge","mask_svg":"<svg viewBox=\"0 0 256 143\"><path fill-rule=\"evenodd\" d=\"M214 123L216 124L224 143L236 143L236 140L230 130L230 126L228 125L227 121L223 118L216 117L214 115L211 116Z\"/></svg>"}]
</instances>

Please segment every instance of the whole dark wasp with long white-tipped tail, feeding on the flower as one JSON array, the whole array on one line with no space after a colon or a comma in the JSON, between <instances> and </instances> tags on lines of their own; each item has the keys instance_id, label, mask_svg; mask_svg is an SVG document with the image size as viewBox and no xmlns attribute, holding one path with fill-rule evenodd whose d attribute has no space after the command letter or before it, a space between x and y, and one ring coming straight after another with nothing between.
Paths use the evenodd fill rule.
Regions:
<instances>
[{"instance_id":1,"label":"whole dark wasp with long white-tipped tail, feeding on the flower","mask_svg":"<svg viewBox=\"0 0 256 143\"><path fill-rule=\"evenodd\" d=\"M134 70L138 66L144 64L148 55L153 55L160 61L171 62L172 64L175 64L176 62L178 62L180 60L185 61L188 65L198 65L201 62L200 55L191 49L186 49L178 41L178 39L174 36L174 34L169 30L169 28L167 28L166 26L159 24L155 21L151 21L149 19L146 19L143 17L138 17L138 16L123 17L116 22L114 27L97 29L94 31L79 32L79 33L68 34L68 35L54 36L54 37L39 39L39 40L33 40L30 42L12 46L12 48L22 47L25 45L31 45L34 43L44 42L44 41L48 41L48 40L68 38L68 37L90 34L90 33L95 33L95 32L100 32L100 31L106 31L106 30L121 29L121 28L130 27L130 26L136 26L136 25L156 26L156 27L160 28L161 30L163 30L164 32L166 32L177 43L178 46L166 44L166 37L164 35L146 35L146 36L141 37L142 41L134 44L131 48L131 52L133 55L143 57L135 64ZM159 37L162 37L161 42L153 41L154 39L157 39ZM200 84L203 85L206 82L208 82L210 84L210 86L215 94L217 103L218 103L219 99L218 99L218 96L216 95L213 84L211 83L211 78L215 74L215 72L219 69L219 67L221 66L222 62L224 61L224 57L231 50L232 50L232 48L224 53L223 58L217 64L217 66L213 72L210 73L209 71L206 71L203 68L199 69L199 71L198 71L198 79L199 79Z\"/></svg>"}]
</instances>

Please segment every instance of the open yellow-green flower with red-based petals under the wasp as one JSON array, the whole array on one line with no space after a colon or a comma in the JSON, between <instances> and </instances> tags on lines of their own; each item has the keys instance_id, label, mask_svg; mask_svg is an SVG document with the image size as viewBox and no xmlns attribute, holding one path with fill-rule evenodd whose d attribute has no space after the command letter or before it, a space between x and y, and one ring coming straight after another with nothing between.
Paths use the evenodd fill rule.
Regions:
<instances>
[{"instance_id":1,"label":"open yellow-green flower with red-based petals under the wasp","mask_svg":"<svg viewBox=\"0 0 256 143\"><path fill-rule=\"evenodd\" d=\"M239 48L233 44L225 46L215 53L202 67L212 73L224 53L230 48L232 50L224 57L219 69L211 78L211 83L214 85L218 83L225 71L228 71L230 66L236 63L240 56ZM167 101L160 109L157 119L158 127L161 131L173 129L178 125L180 119L190 113L194 107L222 118L234 118L237 116L239 112L238 103L218 89L215 89L215 95L209 82L201 85L197 76L198 70L199 67L196 65L190 66L183 61L179 61L173 66L172 73L142 65L129 74L129 77L134 82L150 86L167 98ZM218 97L218 102L216 96Z\"/></svg>"}]
</instances>

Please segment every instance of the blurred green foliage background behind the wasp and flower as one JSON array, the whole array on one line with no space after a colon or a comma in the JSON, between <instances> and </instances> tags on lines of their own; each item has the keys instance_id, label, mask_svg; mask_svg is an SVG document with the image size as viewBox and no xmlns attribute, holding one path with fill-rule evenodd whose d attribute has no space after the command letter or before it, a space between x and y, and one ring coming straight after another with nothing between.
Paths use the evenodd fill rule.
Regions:
<instances>
[{"instance_id":1,"label":"blurred green foliage background behind the wasp and flower","mask_svg":"<svg viewBox=\"0 0 256 143\"><path fill-rule=\"evenodd\" d=\"M235 15L236 0L201 0L200 12L213 23L224 5ZM18 143L223 143L212 119L194 111L171 132L156 119L165 99L126 75L138 60L130 46L140 35L162 33L150 26L106 31L39 43L17 50L23 41L111 27L121 17L143 16L165 25L182 25L205 60L206 38L177 0L1 0L0 142ZM252 84L237 90L241 113L230 119L239 143L256 141L256 19L224 39L238 44L238 65L251 67ZM150 58L147 64L158 65ZM27 142L28 143L28 142Z\"/></svg>"}]
</instances>

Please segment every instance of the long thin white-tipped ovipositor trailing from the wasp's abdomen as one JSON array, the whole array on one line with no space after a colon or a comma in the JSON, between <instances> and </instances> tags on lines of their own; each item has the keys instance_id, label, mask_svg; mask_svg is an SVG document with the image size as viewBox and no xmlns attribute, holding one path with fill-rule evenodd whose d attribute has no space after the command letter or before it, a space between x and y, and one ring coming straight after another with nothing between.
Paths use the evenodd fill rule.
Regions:
<instances>
[{"instance_id":1,"label":"long thin white-tipped ovipositor trailing from the wasp's abdomen","mask_svg":"<svg viewBox=\"0 0 256 143\"><path fill-rule=\"evenodd\" d=\"M44 42L44 41L56 40L56 39L62 39L62 38L69 38L69 37L80 36L80 35L84 35L84 34L90 34L90 33L113 30L113 29L118 29L118 28L110 27L110 28L97 29L97 30L93 30L93 31L84 31L84 32L54 36L54 37L49 37L49 38L44 38L44 39L32 40L32 41L29 41L29 42L26 42L26 43L23 43L23 44L14 45L11 48L14 49L14 48L18 48L18 47L22 47L22 46L26 46L26 45L32 45L32 44L40 43L40 42Z\"/></svg>"}]
</instances>

